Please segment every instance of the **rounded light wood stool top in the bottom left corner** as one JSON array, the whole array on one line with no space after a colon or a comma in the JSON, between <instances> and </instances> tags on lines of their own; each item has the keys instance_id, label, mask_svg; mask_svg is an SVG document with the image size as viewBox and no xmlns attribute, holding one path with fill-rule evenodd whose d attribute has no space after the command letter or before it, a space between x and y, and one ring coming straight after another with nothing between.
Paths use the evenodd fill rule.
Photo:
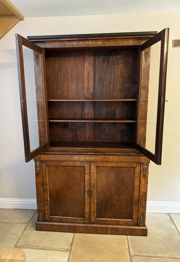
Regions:
<instances>
[{"instance_id":1,"label":"rounded light wood stool top in the bottom left corner","mask_svg":"<svg viewBox=\"0 0 180 262\"><path fill-rule=\"evenodd\" d=\"M26 256L20 248L4 248L0 246L0 262L25 262Z\"/></svg>"}]
</instances>

